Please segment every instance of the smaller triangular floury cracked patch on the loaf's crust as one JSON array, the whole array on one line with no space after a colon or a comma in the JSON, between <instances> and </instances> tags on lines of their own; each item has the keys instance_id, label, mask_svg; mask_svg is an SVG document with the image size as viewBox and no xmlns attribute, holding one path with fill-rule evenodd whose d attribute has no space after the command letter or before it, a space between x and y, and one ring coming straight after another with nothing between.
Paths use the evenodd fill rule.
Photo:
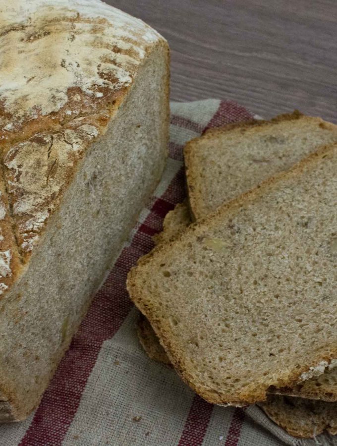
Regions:
<instances>
[{"instance_id":1,"label":"smaller triangular floury cracked patch on the loaf's crust","mask_svg":"<svg viewBox=\"0 0 337 446\"><path fill-rule=\"evenodd\" d=\"M32 252L76 164L98 134L97 127L78 118L60 130L40 132L14 144L4 156L4 180L24 258Z\"/></svg>"}]
</instances>

